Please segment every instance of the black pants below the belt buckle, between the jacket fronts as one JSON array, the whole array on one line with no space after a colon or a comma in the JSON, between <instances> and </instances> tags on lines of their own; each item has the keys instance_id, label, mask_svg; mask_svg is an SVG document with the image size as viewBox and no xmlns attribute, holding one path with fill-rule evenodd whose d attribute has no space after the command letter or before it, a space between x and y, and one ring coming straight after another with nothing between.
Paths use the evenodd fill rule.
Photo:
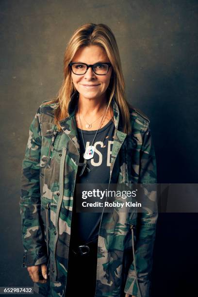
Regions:
<instances>
[{"instance_id":1,"label":"black pants below the belt buckle, between the jacket fronts","mask_svg":"<svg viewBox=\"0 0 198 297\"><path fill-rule=\"evenodd\" d=\"M69 250L65 297L94 297L96 290L97 244L87 255L75 256Z\"/></svg>"}]
</instances>

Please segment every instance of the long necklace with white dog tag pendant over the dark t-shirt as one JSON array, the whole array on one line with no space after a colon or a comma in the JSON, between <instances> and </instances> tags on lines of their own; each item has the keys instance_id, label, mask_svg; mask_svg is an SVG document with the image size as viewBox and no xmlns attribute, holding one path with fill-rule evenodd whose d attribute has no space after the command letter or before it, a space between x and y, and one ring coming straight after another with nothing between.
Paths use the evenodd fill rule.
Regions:
<instances>
[{"instance_id":1,"label":"long necklace with white dog tag pendant over the dark t-shirt","mask_svg":"<svg viewBox=\"0 0 198 297\"><path fill-rule=\"evenodd\" d=\"M85 150L85 152L84 152L84 154L83 154L83 158L84 158L83 167L82 167L82 170L81 170L81 173L80 173L79 176L82 176L82 174L83 174L85 168L87 169L88 172L91 171L91 169L90 169L90 168L88 167L88 165L87 165L87 160L93 158L93 156L94 156L94 150L95 150L95 148L94 148L94 146L93 146L93 143L94 143L94 140L95 140L95 138L96 138L97 132L99 131L99 128L100 128L101 123L102 123L102 120L103 120L103 117L104 117L104 115L106 114L106 112L107 112L107 107L106 107L106 110L104 111L104 113L103 113L103 115L102 115L102 119L101 119L101 121L100 121L100 123L99 123L99 127L98 127L98 129L97 129L97 131L96 131L96 133L95 133L95 136L94 136L94 139L93 139L93 141L92 141L92 144L91 144L90 146L88 146L87 148L85 148L84 137L83 137L82 129L80 128L80 129L81 129L82 141L83 141L83 145L84 145L84 150ZM78 114L79 114L79 119L80 119L80 123L81 123L80 112L79 112L79 104L78 104ZM82 126L82 123L81 123L81 126Z\"/></svg>"}]
</instances>

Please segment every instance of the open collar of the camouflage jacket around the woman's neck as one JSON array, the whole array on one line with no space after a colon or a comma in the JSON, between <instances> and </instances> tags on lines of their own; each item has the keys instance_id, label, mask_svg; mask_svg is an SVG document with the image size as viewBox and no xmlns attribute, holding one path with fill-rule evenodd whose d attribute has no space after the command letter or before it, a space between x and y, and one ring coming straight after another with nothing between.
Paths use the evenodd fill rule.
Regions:
<instances>
[{"instance_id":1,"label":"open collar of the camouflage jacket around the woman's neck","mask_svg":"<svg viewBox=\"0 0 198 297\"><path fill-rule=\"evenodd\" d=\"M59 124L62 128L62 130L68 135L68 137L72 140L74 143L75 147L78 149L80 153L80 145L78 142L78 132L77 132L77 125L76 125L76 109L77 107L77 100L78 100L79 93L74 92L71 96L69 106L68 106L68 114L69 116L66 117L65 119L59 121ZM120 112L119 108L117 106L117 103L115 102L114 98L112 99L112 106L113 106L113 113L114 113L114 123L115 123L115 145L113 145L113 148L115 147L115 151L112 148L112 154L115 152L115 154L118 152L118 148L120 146L117 146L116 141L120 142L120 144L123 143L126 133L122 132L122 123L121 123L121 118L120 118ZM119 130L118 130L119 128Z\"/></svg>"}]
</instances>

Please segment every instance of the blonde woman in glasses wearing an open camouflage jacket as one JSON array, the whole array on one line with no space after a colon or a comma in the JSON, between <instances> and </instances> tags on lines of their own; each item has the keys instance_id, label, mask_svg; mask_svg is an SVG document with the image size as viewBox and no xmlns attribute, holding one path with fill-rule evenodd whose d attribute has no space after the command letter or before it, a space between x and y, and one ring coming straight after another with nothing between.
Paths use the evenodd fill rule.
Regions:
<instances>
[{"instance_id":1,"label":"blonde woman in glasses wearing an open camouflage jacket","mask_svg":"<svg viewBox=\"0 0 198 297\"><path fill-rule=\"evenodd\" d=\"M125 99L115 36L71 37L58 97L30 126L21 173L24 256L44 296L150 296L156 209L78 213L77 184L156 183L149 119ZM155 191L147 193L155 201Z\"/></svg>"}]
</instances>

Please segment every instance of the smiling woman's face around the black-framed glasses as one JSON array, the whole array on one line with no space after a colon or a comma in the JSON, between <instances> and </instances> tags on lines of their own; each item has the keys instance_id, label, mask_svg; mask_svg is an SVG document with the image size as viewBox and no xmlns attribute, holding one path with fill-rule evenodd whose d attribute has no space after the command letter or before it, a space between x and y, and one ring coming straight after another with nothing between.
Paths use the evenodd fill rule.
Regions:
<instances>
[{"instance_id":1,"label":"smiling woman's face around the black-framed glasses","mask_svg":"<svg viewBox=\"0 0 198 297\"><path fill-rule=\"evenodd\" d=\"M71 62L81 62L86 64L95 64L98 62L110 62L105 50L96 45L82 47L78 49ZM108 88L112 66L105 75L97 75L91 67L83 75L76 75L72 72L72 81L83 98L100 98L104 96ZM103 97L102 96L102 97Z\"/></svg>"}]
</instances>

